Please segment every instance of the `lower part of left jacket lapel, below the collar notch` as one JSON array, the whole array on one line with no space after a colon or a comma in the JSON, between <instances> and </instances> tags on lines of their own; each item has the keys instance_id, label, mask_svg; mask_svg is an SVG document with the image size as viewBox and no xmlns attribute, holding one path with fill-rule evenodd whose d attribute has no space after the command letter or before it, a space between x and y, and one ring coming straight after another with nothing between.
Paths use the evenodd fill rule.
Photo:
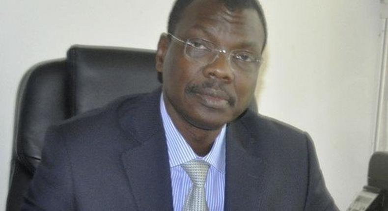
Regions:
<instances>
[{"instance_id":1,"label":"lower part of left jacket lapel, below the collar notch","mask_svg":"<svg viewBox=\"0 0 388 211\"><path fill-rule=\"evenodd\" d=\"M161 142L163 140L149 140L122 156L133 195L141 211L172 210L168 154L161 153L165 147Z\"/></svg>"}]
</instances>

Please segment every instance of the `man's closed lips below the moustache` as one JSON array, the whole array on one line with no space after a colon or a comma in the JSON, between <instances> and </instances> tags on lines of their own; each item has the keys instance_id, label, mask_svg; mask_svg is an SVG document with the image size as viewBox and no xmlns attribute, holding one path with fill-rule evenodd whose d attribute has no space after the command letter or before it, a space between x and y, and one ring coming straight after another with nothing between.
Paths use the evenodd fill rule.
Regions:
<instances>
[{"instance_id":1,"label":"man's closed lips below the moustache","mask_svg":"<svg viewBox=\"0 0 388 211\"><path fill-rule=\"evenodd\" d=\"M196 96L201 99L201 104L206 107L224 109L229 106L229 97L221 90L206 88L196 93Z\"/></svg>"}]
</instances>

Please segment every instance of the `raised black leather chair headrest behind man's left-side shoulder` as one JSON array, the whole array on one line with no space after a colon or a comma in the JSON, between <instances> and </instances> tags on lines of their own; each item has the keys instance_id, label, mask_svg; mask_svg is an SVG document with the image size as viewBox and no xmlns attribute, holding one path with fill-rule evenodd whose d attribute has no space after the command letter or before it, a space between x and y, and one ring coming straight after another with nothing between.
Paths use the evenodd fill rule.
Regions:
<instances>
[{"instance_id":1,"label":"raised black leather chair headrest behind man's left-side shoulder","mask_svg":"<svg viewBox=\"0 0 388 211\"><path fill-rule=\"evenodd\" d=\"M151 50L72 46L67 62L73 83L73 115L159 87L155 55Z\"/></svg>"}]
</instances>

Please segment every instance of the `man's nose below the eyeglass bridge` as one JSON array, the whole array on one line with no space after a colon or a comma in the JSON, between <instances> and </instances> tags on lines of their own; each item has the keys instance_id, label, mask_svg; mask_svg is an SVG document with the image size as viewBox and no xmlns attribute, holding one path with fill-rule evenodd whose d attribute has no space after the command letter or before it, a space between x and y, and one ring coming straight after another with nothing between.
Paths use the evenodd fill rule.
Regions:
<instances>
[{"instance_id":1,"label":"man's nose below the eyeglass bridge","mask_svg":"<svg viewBox=\"0 0 388 211\"><path fill-rule=\"evenodd\" d=\"M230 83L234 80L234 72L230 67L228 55L220 53L216 60L203 69L203 74L206 78L220 79L225 83Z\"/></svg>"}]
</instances>

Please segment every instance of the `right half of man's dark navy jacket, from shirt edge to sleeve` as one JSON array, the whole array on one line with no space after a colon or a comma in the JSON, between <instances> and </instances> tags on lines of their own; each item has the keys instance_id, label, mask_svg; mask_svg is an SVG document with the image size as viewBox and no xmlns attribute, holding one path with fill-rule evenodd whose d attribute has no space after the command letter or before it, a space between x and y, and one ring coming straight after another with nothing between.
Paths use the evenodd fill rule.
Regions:
<instances>
[{"instance_id":1,"label":"right half of man's dark navy jacket, from shirt edge to sleeve","mask_svg":"<svg viewBox=\"0 0 388 211\"><path fill-rule=\"evenodd\" d=\"M226 146L228 210L337 210L306 132L248 110Z\"/></svg>"}]
</instances>

